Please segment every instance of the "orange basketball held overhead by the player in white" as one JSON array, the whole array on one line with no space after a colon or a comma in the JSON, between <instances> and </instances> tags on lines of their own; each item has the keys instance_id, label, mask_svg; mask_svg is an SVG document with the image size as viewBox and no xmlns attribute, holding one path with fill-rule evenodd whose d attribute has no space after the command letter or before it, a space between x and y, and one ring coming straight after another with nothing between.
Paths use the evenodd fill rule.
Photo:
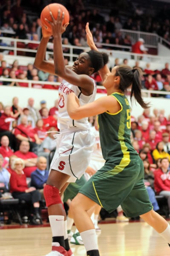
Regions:
<instances>
[{"instance_id":1,"label":"orange basketball held overhead by the player in white","mask_svg":"<svg viewBox=\"0 0 170 256\"><path fill-rule=\"evenodd\" d=\"M48 23L48 21L45 20L45 18L49 21L52 21L52 17L49 13L49 12L52 12L53 17L56 20L58 17L59 9L61 11L61 13L60 13L61 17L62 17L62 13L64 12L63 25L65 23L69 23L69 12L66 9L66 7L64 7L60 3L51 3L51 4L47 5L46 7L44 7L44 9L41 12L40 20L41 20L42 27L43 27L43 29L44 28L47 29L47 31L49 33L52 33L51 25Z\"/></svg>"}]
</instances>

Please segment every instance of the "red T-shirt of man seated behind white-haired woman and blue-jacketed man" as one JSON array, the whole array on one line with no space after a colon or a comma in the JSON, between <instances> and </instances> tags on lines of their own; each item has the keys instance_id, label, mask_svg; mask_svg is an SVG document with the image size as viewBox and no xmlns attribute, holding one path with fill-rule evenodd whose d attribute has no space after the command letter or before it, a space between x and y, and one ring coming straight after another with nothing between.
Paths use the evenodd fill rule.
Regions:
<instances>
[{"instance_id":1,"label":"red T-shirt of man seated behind white-haired woman and blue-jacketed man","mask_svg":"<svg viewBox=\"0 0 170 256\"><path fill-rule=\"evenodd\" d=\"M26 154L22 153L21 151L17 150L16 152L14 152L14 155L16 155L17 157L26 160L29 158L37 158L37 155L34 152L27 152ZM35 171L35 169L37 169L37 166L25 166L25 168L23 169L26 177L31 177L31 173Z\"/></svg>"}]
</instances>

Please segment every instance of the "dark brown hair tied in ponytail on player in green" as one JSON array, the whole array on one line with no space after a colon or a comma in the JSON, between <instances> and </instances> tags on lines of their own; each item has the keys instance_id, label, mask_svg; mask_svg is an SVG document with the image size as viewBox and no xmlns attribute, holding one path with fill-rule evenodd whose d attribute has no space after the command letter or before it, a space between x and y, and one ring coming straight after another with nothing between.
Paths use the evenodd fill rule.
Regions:
<instances>
[{"instance_id":1,"label":"dark brown hair tied in ponytail on player in green","mask_svg":"<svg viewBox=\"0 0 170 256\"><path fill-rule=\"evenodd\" d=\"M132 97L134 96L135 100L141 105L142 108L150 108L148 103L145 103L141 96L141 69L134 68L127 65L120 65L116 69L115 76L120 76L119 89L124 93L127 91L127 88L131 87L130 100L132 102Z\"/></svg>"}]
</instances>

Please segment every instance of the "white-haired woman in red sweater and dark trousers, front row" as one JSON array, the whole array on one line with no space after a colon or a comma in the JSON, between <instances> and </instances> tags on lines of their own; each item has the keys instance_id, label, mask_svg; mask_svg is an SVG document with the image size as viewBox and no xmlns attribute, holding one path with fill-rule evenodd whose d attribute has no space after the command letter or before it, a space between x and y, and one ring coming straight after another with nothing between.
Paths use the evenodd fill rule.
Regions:
<instances>
[{"instance_id":1,"label":"white-haired woman in red sweater and dark trousers, front row","mask_svg":"<svg viewBox=\"0 0 170 256\"><path fill-rule=\"evenodd\" d=\"M28 187L26 183L26 175L23 172L24 161L21 158L16 158L12 164L14 170L10 177L10 192L14 198L20 201L24 200L31 203L34 208L32 224L38 225L42 223L40 217L40 200L41 194L35 187ZM37 221L39 220L39 221Z\"/></svg>"}]
</instances>

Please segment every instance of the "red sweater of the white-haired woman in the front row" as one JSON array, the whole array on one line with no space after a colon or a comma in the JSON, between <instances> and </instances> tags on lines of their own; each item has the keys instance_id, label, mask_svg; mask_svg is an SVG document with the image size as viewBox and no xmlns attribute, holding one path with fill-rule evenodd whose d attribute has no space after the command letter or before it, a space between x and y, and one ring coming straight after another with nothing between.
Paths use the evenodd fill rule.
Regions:
<instances>
[{"instance_id":1,"label":"red sweater of the white-haired woman in the front row","mask_svg":"<svg viewBox=\"0 0 170 256\"><path fill-rule=\"evenodd\" d=\"M25 192L28 189L28 185L26 183L26 175L17 174L15 171L11 173L11 177L9 180L10 183L10 192Z\"/></svg>"}]
</instances>

